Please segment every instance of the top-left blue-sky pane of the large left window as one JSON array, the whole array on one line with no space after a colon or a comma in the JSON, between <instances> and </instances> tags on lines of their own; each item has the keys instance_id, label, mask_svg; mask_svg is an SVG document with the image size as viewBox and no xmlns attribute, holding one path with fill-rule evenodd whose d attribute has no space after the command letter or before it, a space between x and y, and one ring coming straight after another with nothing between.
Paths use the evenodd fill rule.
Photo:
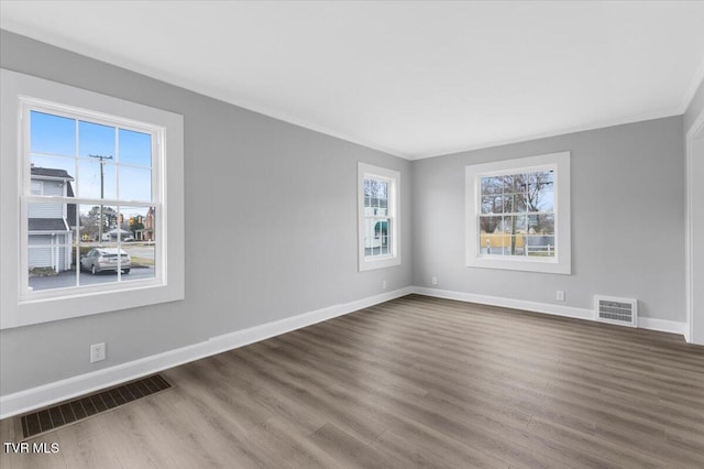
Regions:
<instances>
[{"instance_id":1,"label":"top-left blue-sky pane of the large left window","mask_svg":"<svg viewBox=\"0 0 704 469\"><path fill-rule=\"evenodd\" d=\"M30 149L32 153L76 155L76 121L44 112L30 112Z\"/></svg>"}]
</instances>

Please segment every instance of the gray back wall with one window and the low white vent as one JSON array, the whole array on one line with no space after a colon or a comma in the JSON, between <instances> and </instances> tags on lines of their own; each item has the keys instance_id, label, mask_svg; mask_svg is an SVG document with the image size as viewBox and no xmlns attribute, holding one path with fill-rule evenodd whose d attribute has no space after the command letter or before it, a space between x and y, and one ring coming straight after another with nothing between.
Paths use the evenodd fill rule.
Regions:
<instances>
[{"instance_id":1,"label":"gray back wall with one window and the low white vent","mask_svg":"<svg viewBox=\"0 0 704 469\"><path fill-rule=\"evenodd\" d=\"M414 162L414 284L581 308L635 297L642 316L684 321L682 134L680 116ZM559 151L572 152L573 274L464 266L464 167Z\"/></svg>"}]
</instances>

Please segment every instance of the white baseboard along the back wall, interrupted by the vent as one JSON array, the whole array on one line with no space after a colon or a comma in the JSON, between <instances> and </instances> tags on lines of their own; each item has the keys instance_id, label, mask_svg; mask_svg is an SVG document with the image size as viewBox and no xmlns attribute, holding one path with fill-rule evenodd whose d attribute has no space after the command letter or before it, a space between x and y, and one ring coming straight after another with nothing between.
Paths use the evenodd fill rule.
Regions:
<instances>
[{"instance_id":1,"label":"white baseboard along the back wall, interrupted by the vent","mask_svg":"<svg viewBox=\"0 0 704 469\"><path fill-rule=\"evenodd\" d=\"M414 286L414 293L437 298L457 299L459 302L479 303L490 306L503 306L506 308L526 309L534 313L544 313L554 316L572 317L576 319L595 320L594 310L586 308L575 308L572 306L552 305L549 303L528 302L524 299L502 298L499 296L476 295L473 293L453 292L449 290L428 288L425 286ZM686 336L686 323L676 320L654 319L650 317L639 317L638 327L641 329L658 330L661 332L681 334Z\"/></svg>"}]
</instances>

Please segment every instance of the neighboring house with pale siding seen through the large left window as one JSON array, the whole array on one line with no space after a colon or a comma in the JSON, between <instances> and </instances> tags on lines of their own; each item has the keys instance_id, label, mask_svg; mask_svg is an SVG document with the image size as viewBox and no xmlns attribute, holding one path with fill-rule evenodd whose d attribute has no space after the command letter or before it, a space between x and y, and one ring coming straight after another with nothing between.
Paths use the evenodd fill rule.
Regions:
<instances>
[{"instance_id":1,"label":"neighboring house with pale siding seen through the large left window","mask_svg":"<svg viewBox=\"0 0 704 469\"><path fill-rule=\"evenodd\" d=\"M32 194L74 197L65 170L32 166ZM72 231L76 229L76 205L34 203L29 210L29 269L70 270ZM69 221L70 220L70 221Z\"/></svg>"}]
</instances>

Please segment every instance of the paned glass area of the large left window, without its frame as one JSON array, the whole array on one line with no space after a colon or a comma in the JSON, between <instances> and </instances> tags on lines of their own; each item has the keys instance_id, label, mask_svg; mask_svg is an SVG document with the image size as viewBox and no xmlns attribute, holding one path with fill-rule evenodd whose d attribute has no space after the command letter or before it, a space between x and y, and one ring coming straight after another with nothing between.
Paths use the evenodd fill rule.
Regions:
<instances>
[{"instance_id":1,"label":"paned glass area of the large left window, without its frame","mask_svg":"<svg viewBox=\"0 0 704 469\"><path fill-rule=\"evenodd\" d=\"M153 156L163 130L110 116L97 119L65 106L21 102L29 141L22 154L26 269L21 297L157 279L156 233L134 243L136 229L129 220L144 219L161 205ZM114 265L84 261L95 247L123 250L127 257L116 257Z\"/></svg>"}]
</instances>

